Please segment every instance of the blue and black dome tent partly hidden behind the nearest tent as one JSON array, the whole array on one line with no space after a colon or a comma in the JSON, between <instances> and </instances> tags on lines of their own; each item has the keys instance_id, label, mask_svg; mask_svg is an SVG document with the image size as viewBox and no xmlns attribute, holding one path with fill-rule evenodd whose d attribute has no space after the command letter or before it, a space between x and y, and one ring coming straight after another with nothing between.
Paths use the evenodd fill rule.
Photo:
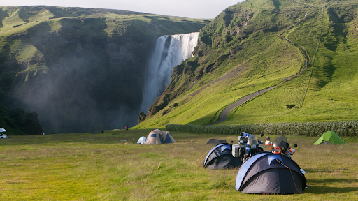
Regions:
<instances>
[{"instance_id":1,"label":"blue and black dome tent partly hidden behind the nearest tent","mask_svg":"<svg viewBox=\"0 0 358 201\"><path fill-rule=\"evenodd\" d=\"M231 153L232 144L217 144L206 155L204 168L228 169L240 167L243 163L240 157L234 157Z\"/></svg>"}]
</instances>

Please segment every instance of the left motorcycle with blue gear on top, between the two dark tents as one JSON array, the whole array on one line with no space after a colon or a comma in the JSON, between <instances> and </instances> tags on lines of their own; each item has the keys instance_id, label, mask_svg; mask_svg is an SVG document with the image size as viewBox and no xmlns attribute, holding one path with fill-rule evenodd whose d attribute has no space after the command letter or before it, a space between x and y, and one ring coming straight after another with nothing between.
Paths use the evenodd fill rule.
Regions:
<instances>
[{"instance_id":1,"label":"left motorcycle with blue gear on top, between the two dark tents","mask_svg":"<svg viewBox=\"0 0 358 201\"><path fill-rule=\"evenodd\" d=\"M264 134L260 135L260 138L264 136ZM247 161L252 155L257 154L258 152L264 151L261 144L264 144L264 141L257 140L255 135L251 135L248 133L241 133L241 136L238 137L240 149L239 156L243 162Z\"/></svg>"}]
</instances>

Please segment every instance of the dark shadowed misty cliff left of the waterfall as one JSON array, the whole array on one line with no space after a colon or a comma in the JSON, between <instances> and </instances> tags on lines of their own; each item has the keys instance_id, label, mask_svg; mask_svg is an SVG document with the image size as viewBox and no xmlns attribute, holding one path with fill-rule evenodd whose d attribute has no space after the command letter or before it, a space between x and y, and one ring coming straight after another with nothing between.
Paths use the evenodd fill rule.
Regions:
<instances>
[{"instance_id":1,"label":"dark shadowed misty cliff left of the waterfall","mask_svg":"<svg viewBox=\"0 0 358 201\"><path fill-rule=\"evenodd\" d=\"M57 15L64 13L50 8ZM83 11L108 13L99 10ZM0 71L7 75L0 80L1 93L8 97L3 104L37 112L46 133L136 125L145 61L157 37L199 31L207 22L178 22L157 15L129 18L52 17L0 36Z\"/></svg>"}]
</instances>

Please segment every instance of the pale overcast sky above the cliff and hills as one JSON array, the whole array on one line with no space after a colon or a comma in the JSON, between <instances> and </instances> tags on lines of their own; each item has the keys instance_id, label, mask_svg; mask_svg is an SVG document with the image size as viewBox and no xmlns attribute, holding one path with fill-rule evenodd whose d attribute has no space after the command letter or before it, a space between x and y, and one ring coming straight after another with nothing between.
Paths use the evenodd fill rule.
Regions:
<instances>
[{"instance_id":1,"label":"pale overcast sky above the cliff and hills","mask_svg":"<svg viewBox=\"0 0 358 201\"><path fill-rule=\"evenodd\" d=\"M0 6L110 8L157 15L213 19L243 0L0 0Z\"/></svg>"}]
</instances>

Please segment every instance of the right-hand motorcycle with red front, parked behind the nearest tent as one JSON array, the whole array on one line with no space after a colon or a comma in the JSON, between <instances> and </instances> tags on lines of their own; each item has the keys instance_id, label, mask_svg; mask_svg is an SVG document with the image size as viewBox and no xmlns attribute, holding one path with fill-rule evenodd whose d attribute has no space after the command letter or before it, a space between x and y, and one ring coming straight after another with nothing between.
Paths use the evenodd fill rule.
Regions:
<instances>
[{"instance_id":1,"label":"right-hand motorcycle with red front, parked behind the nearest tent","mask_svg":"<svg viewBox=\"0 0 358 201\"><path fill-rule=\"evenodd\" d=\"M288 158L292 159L292 155L296 152L295 149L289 147L289 144L287 143L287 137L285 137L284 135L280 135L277 137L277 139L275 140L275 142L271 142L270 137L266 137L266 142L265 142L266 146L273 146L270 147L270 149L272 149L272 153L273 154L282 154L287 156ZM294 148L297 147L297 144L294 144L293 146Z\"/></svg>"}]
</instances>

